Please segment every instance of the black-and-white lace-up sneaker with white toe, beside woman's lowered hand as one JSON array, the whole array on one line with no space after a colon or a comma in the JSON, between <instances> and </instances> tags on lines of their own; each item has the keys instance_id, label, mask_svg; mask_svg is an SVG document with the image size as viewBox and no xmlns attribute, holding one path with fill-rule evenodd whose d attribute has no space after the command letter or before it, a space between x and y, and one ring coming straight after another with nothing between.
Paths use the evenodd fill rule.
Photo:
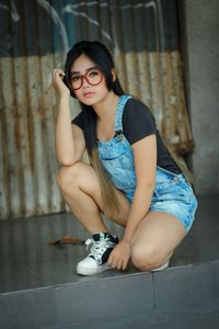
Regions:
<instances>
[{"instance_id":1,"label":"black-and-white lace-up sneaker with white toe, beside woman's lowered hand","mask_svg":"<svg viewBox=\"0 0 219 329\"><path fill-rule=\"evenodd\" d=\"M111 266L107 264L110 253L118 243L118 238L108 232L93 235L92 239L85 240L87 249L92 245L90 253L77 265L77 273L81 275L94 275Z\"/></svg>"}]
</instances>

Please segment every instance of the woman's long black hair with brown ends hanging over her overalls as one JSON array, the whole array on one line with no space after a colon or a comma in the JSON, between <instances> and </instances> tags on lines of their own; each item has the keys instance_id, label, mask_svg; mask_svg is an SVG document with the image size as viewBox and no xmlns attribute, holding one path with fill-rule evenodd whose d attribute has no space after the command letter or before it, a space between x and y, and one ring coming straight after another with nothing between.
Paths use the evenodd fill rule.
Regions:
<instances>
[{"instance_id":1,"label":"woman's long black hair with brown ends hanging over her overalls","mask_svg":"<svg viewBox=\"0 0 219 329\"><path fill-rule=\"evenodd\" d=\"M70 68L74 60L82 54L88 56L101 69L105 77L108 91L114 91L114 93L118 97L124 94L124 90L120 86L118 77L116 76L116 79L113 79L112 70L115 69L115 66L108 49L100 42L82 41L73 45L73 47L68 52L66 59L65 82L70 89L71 97L76 98L73 90L70 88ZM99 158L96 141L96 113L90 105L85 105L81 102L80 105L84 112L83 133L85 146L91 164L93 166L100 179L104 213L107 217L114 217L115 213L119 211L119 206L113 183L108 179L107 173L105 172Z\"/></svg>"}]
</instances>

